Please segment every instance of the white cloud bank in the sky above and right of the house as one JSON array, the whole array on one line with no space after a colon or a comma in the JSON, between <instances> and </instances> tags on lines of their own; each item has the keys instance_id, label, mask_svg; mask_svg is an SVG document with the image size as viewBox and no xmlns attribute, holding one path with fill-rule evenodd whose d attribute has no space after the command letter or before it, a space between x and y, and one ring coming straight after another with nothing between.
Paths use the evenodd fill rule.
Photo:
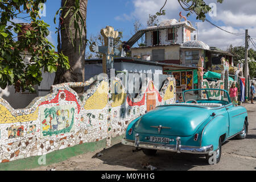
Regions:
<instances>
[{"instance_id":1,"label":"white cloud bank in the sky above and right of the house","mask_svg":"<svg viewBox=\"0 0 256 182\"><path fill-rule=\"evenodd\" d=\"M148 14L155 14L164 5L165 0L133 0L130 4L134 6L134 10L127 18L127 14L117 16L116 20L129 20L134 21L140 19L143 26L146 27ZM249 35L256 38L256 1L255 0L224 0L223 3L217 3L217 0L206 0L206 3L216 3L217 5L217 16L208 18L214 24L224 30L244 34L245 29L249 29ZM179 12L183 15L187 14L181 9L177 0L168 0L167 5L164 7L166 15L159 18L159 21L164 19L179 19ZM190 16L188 20L192 20L195 26L195 14ZM233 46L243 46L245 43L244 36L236 36L229 34L225 31L212 26L208 22L197 22L199 27L199 39L209 46L226 49L230 44ZM193 35L197 32L193 32ZM254 40L256 42L256 40Z\"/></svg>"}]
</instances>

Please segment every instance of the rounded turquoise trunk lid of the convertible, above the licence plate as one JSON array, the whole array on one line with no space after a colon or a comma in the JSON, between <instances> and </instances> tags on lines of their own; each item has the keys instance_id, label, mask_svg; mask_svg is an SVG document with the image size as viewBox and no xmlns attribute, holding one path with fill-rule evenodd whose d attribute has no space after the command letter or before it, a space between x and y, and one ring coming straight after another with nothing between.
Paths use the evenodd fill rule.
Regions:
<instances>
[{"instance_id":1,"label":"rounded turquoise trunk lid of the convertible, above the licence plate","mask_svg":"<svg viewBox=\"0 0 256 182\"><path fill-rule=\"evenodd\" d=\"M193 106L160 106L139 119L134 131L156 135L191 136L213 111ZM158 126L162 129L158 133Z\"/></svg>"}]
</instances>

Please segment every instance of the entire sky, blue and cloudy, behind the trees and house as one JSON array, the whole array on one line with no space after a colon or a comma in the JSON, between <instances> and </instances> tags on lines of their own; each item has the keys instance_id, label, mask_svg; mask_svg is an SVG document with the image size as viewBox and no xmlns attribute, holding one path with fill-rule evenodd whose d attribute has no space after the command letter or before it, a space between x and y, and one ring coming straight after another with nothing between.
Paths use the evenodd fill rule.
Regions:
<instances>
[{"instance_id":1,"label":"entire sky, blue and cloudy, behind the trees and house","mask_svg":"<svg viewBox=\"0 0 256 182\"><path fill-rule=\"evenodd\" d=\"M60 0L47 0L46 3L46 16L42 19L49 24L50 35L48 39L57 47L57 34L55 34L55 27L57 24L53 23L53 18L56 11L60 7ZM165 0L88 0L87 6L87 37L97 35L101 28L106 26L113 26L115 30L123 32L123 41L127 41L133 35L133 23L139 20L142 28L146 28L148 14L155 14L163 6ZM224 0L222 4L217 3L217 0L205 0L205 2L215 3L216 14L213 16L207 15L207 18L223 28L224 30L234 32L237 34L245 34L245 29L249 30L249 35L255 38L256 42L256 1L255 0ZM177 0L168 0L166 6L166 15L161 16L159 21L164 19L177 19L179 20L179 12L183 15L188 12L181 9ZM232 35L224 32L208 22L201 22L196 20L196 15L192 14L187 18L190 20L197 31L193 32L198 34L198 40L203 41L210 47L218 47L226 50L232 44L233 46L244 46L245 36ZM16 23L26 22L23 19L15 19ZM252 47L252 44L250 44ZM253 47L252 47L253 48Z\"/></svg>"}]
</instances>

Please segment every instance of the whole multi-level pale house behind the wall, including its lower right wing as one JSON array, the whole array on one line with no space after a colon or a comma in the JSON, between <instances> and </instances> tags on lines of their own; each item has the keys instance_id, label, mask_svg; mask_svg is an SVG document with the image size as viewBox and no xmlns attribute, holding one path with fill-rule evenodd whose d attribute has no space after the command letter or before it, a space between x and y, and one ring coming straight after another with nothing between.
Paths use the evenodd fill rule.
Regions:
<instances>
[{"instance_id":1,"label":"whole multi-level pale house behind the wall, including its lower right wing","mask_svg":"<svg viewBox=\"0 0 256 182\"><path fill-rule=\"evenodd\" d=\"M176 86L179 92L178 90L197 88L197 64L200 57L204 58L204 71L212 71L214 65L220 65L221 57L228 60L233 67L234 55L210 47L197 40L196 36L192 40L191 34L194 31L196 29L189 20L183 22L178 22L176 19L164 20L159 26L139 30L126 43L131 47L132 57L166 64L163 72L172 73L177 78ZM144 46L133 47L143 35L146 40ZM180 69L168 64L180 65ZM233 68L232 73L236 70Z\"/></svg>"}]
</instances>

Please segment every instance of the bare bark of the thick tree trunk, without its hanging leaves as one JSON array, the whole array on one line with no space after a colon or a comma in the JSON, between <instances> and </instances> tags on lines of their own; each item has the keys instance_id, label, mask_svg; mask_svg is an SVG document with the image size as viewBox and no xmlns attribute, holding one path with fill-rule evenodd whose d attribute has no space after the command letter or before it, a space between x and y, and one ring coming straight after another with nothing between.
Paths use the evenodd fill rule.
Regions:
<instances>
[{"instance_id":1,"label":"bare bark of the thick tree trunk, without its hanging leaves","mask_svg":"<svg viewBox=\"0 0 256 182\"><path fill-rule=\"evenodd\" d=\"M66 0L61 0L61 5L64 5ZM86 24L86 8L87 8L87 1L88 0L80 0L80 11L82 17L84 19L84 24ZM61 17L63 18L69 7L75 6L74 0L67 0L66 7L67 9L63 10ZM64 19L63 23L61 24L61 47L60 51L63 52L65 56L68 56L69 64L71 68L69 70L64 70L59 68L56 72L54 84L60 84L63 82L84 82L84 74L85 74L85 48L86 48L86 32L82 31L82 45L80 47L79 52L79 45L80 45L80 37L79 31L77 33L77 38L75 39L75 27L74 27L74 19L72 20L73 13L69 13L68 16ZM72 20L72 25L69 27L69 23ZM82 27L81 22L79 26ZM81 28L83 30L83 28ZM72 32L72 35L71 35ZM76 45L73 47L72 45L72 38L73 43ZM84 91L84 88L76 89L76 92L81 93Z\"/></svg>"}]
</instances>

